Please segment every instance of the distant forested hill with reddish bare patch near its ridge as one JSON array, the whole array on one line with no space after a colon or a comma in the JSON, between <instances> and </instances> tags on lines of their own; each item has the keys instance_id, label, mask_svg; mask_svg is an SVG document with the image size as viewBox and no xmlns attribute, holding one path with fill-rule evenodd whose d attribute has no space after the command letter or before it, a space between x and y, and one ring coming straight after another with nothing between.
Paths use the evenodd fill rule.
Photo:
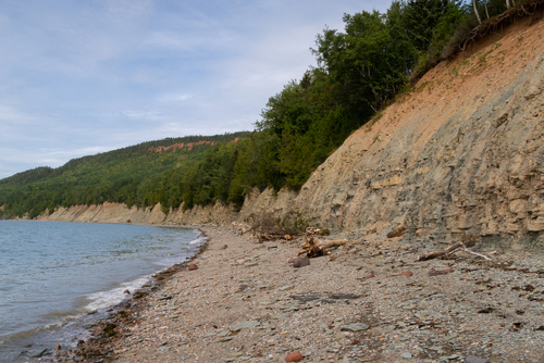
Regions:
<instances>
[{"instance_id":1,"label":"distant forested hill with reddish bare patch near its ridge","mask_svg":"<svg viewBox=\"0 0 544 363\"><path fill-rule=\"evenodd\" d=\"M104 201L148 206L178 206L180 183L190 184L190 171L210 155L234 149L250 133L189 136L143 142L96 155L73 159L61 167L37 167L0 180L0 213L30 217L57 206ZM178 184L173 188L171 184ZM164 188L168 188L164 190ZM168 197L166 197L168 196Z\"/></svg>"}]
</instances>

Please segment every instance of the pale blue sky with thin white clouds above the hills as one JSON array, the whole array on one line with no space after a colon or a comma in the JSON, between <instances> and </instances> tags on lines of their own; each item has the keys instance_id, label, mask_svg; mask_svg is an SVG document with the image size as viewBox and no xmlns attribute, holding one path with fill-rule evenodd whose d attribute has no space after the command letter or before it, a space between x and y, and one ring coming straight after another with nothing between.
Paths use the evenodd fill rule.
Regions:
<instances>
[{"instance_id":1,"label":"pale blue sky with thin white clouds above the hills","mask_svg":"<svg viewBox=\"0 0 544 363\"><path fill-rule=\"evenodd\" d=\"M0 0L0 179L149 140L252 130L378 0Z\"/></svg>"}]
</instances>

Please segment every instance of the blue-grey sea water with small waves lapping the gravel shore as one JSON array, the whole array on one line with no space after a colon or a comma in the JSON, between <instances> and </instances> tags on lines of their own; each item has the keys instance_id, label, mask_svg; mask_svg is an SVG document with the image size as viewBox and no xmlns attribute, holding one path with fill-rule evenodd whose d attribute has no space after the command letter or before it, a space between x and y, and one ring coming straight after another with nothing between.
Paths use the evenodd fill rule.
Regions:
<instances>
[{"instance_id":1,"label":"blue-grey sea water with small waves lapping the gravel shore","mask_svg":"<svg viewBox=\"0 0 544 363\"><path fill-rule=\"evenodd\" d=\"M89 312L121 302L205 241L174 227L0 221L0 362L75 345Z\"/></svg>"}]
</instances>

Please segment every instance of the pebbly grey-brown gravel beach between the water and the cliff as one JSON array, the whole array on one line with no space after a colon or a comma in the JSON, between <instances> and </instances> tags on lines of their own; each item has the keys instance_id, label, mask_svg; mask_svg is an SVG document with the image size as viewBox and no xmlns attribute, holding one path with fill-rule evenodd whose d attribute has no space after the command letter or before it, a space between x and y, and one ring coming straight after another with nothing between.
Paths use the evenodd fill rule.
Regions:
<instances>
[{"instance_id":1,"label":"pebbly grey-brown gravel beach between the water and the cliff","mask_svg":"<svg viewBox=\"0 0 544 363\"><path fill-rule=\"evenodd\" d=\"M295 268L301 240L197 227L210 237L197 270L160 274L55 360L544 362L536 254L415 262L447 246L394 238L353 241Z\"/></svg>"}]
</instances>

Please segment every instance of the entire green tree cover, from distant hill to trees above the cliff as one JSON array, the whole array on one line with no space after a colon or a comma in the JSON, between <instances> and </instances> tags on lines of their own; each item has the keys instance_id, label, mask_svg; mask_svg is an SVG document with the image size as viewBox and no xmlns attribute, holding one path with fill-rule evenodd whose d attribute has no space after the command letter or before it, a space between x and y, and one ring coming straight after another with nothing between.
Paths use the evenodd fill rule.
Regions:
<instances>
[{"instance_id":1,"label":"entire green tree cover, from distant hill to trees above the cliff","mask_svg":"<svg viewBox=\"0 0 544 363\"><path fill-rule=\"evenodd\" d=\"M479 17L486 32L485 18L507 7L504 0L394 1L385 13L346 14L344 32L317 36L318 66L269 99L252 133L145 142L20 173L0 180L0 216L104 201L160 202L164 212L218 201L239 209L255 187L298 190L354 130L410 92L410 80L462 49Z\"/></svg>"}]
</instances>

